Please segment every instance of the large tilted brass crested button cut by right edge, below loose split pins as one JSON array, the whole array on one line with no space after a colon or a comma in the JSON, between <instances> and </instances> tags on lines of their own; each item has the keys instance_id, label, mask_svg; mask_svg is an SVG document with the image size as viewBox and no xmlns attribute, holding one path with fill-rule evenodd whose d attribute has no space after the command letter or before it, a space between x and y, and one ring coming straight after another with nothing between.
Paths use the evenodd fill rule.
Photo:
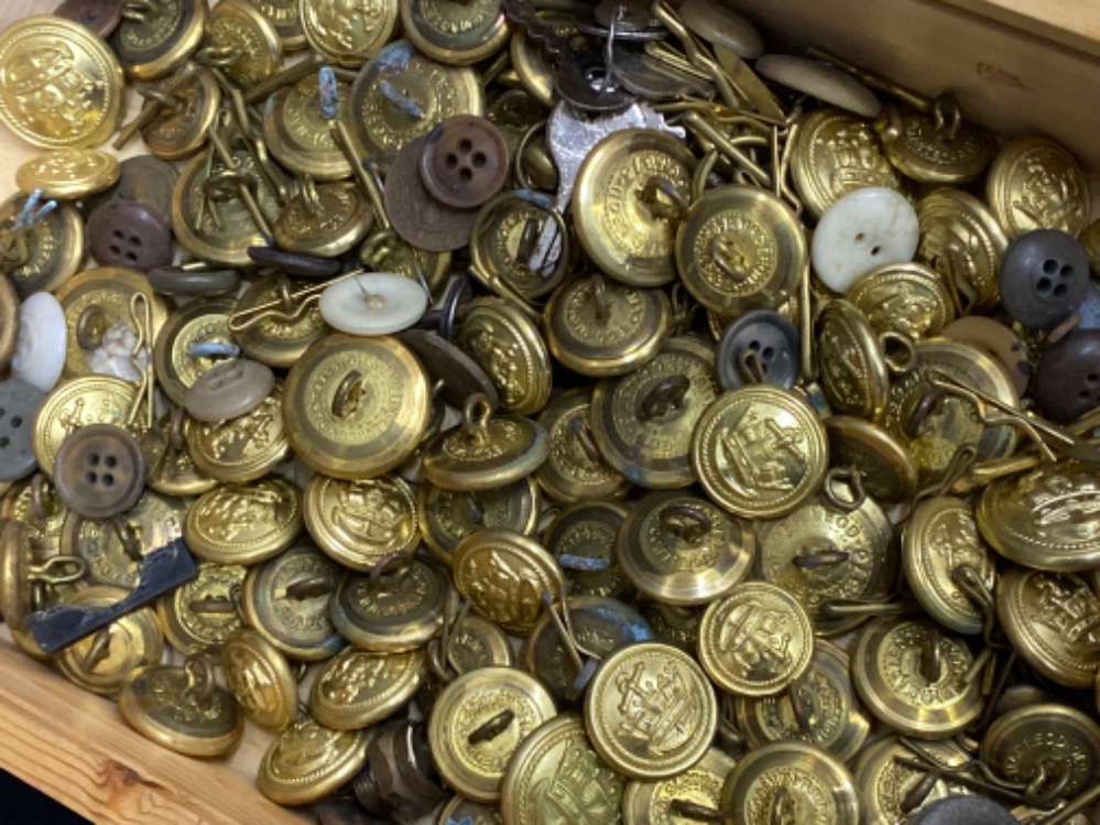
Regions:
<instances>
[{"instance_id":1,"label":"large tilted brass crested button cut by right edge, below loose split pins","mask_svg":"<svg viewBox=\"0 0 1100 825\"><path fill-rule=\"evenodd\" d=\"M1045 464L985 488L976 515L982 536L1004 557L1039 569L1093 569L1100 555L1094 473L1083 465Z\"/></svg>"}]
</instances>

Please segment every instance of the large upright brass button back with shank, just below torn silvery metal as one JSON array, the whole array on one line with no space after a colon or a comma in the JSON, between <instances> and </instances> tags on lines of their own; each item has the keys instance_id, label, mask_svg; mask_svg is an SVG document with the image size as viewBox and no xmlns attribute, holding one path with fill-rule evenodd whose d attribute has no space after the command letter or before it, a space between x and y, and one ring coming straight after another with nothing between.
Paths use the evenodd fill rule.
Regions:
<instances>
[{"instance_id":1,"label":"large upright brass button back with shank, just below torn silvery metal","mask_svg":"<svg viewBox=\"0 0 1100 825\"><path fill-rule=\"evenodd\" d=\"M574 226L605 273L631 286L676 278L676 227L686 211L695 155L672 132L622 129L586 156L573 188Z\"/></svg>"}]
</instances>

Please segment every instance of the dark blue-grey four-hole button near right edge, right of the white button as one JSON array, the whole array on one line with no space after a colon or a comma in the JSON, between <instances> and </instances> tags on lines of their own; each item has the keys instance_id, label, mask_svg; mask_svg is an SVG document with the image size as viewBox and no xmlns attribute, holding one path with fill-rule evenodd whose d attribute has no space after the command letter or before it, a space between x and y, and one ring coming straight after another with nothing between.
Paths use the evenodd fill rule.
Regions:
<instances>
[{"instance_id":1,"label":"dark blue-grey four-hole button near right edge, right of the white button","mask_svg":"<svg viewBox=\"0 0 1100 825\"><path fill-rule=\"evenodd\" d=\"M1013 318L1053 329L1080 306L1089 284L1089 259L1077 240L1057 229L1036 229L1004 250L996 285Z\"/></svg>"}]
</instances>

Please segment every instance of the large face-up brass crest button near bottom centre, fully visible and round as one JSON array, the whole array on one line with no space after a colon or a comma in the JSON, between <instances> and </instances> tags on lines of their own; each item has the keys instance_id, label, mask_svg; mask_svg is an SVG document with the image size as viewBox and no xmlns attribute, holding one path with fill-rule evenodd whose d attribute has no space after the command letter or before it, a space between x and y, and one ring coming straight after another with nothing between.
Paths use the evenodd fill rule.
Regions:
<instances>
[{"instance_id":1,"label":"large face-up brass crest button near bottom centre, fully visible and round","mask_svg":"<svg viewBox=\"0 0 1100 825\"><path fill-rule=\"evenodd\" d=\"M706 756L718 728L718 701L691 656L641 642L603 660L585 694L585 727L611 768L652 782Z\"/></svg>"}]
</instances>

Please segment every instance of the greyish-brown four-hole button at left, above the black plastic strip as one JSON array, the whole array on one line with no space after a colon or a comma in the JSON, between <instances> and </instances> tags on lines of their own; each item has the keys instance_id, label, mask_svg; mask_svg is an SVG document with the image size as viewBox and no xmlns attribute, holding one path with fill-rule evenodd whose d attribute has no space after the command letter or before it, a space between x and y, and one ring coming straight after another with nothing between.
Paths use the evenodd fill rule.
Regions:
<instances>
[{"instance_id":1,"label":"greyish-brown four-hole button at left, above the black plastic strip","mask_svg":"<svg viewBox=\"0 0 1100 825\"><path fill-rule=\"evenodd\" d=\"M57 497L88 519L126 512L145 489L145 459L130 433L112 424L78 427L54 458Z\"/></svg>"}]
</instances>

